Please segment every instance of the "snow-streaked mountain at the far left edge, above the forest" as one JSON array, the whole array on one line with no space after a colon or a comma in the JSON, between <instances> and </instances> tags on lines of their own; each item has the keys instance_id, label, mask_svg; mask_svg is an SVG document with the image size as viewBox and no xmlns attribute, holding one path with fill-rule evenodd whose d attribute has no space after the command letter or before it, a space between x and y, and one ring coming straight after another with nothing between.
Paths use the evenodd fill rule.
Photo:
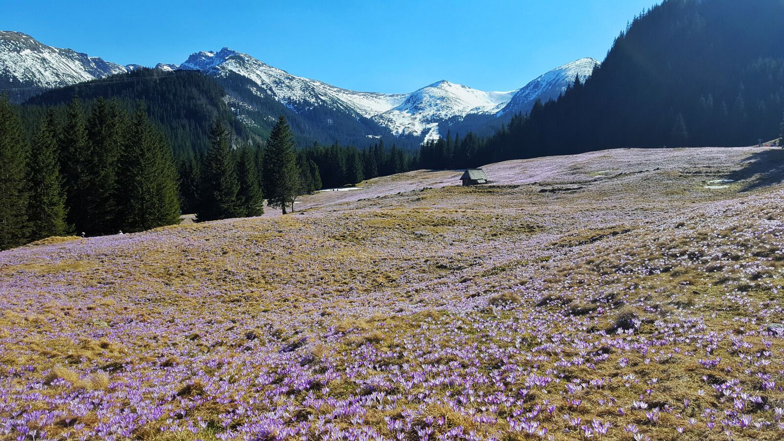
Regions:
<instances>
[{"instance_id":1,"label":"snow-streaked mountain at the far left edge, above the forest","mask_svg":"<svg viewBox=\"0 0 784 441\"><path fill-rule=\"evenodd\" d=\"M3 86L70 86L127 71L128 67L97 56L46 46L21 32L0 31L0 84Z\"/></svg>"}]
</instances>

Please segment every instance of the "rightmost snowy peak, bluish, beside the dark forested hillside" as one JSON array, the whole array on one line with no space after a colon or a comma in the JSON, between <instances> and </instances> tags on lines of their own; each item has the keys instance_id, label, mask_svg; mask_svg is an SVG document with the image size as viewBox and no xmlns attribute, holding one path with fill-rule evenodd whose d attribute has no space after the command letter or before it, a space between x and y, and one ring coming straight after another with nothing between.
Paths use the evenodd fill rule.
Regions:
<instances>
[{"instance_id":1,"label":"rightmost snowy peak, bluish, beside the dark forested hillside","mask_svg":"<svg viewBox=\"0 0 784 441\"><path fill-rule=\"evenodd\" d=\"M556 67L518 90L509 103L499 112L499 115L517 112L525 113L531 110L536 100L544 102L550 100L550 98L555 99L561 93L564 93L568 86L574 84L575 76L579 75L580 80L585 81L586 78L593 74L593 68L597 66L601 66L601 63L593 58L586 57L564 64L561 67Z\"/></svg>"}]
</instances>

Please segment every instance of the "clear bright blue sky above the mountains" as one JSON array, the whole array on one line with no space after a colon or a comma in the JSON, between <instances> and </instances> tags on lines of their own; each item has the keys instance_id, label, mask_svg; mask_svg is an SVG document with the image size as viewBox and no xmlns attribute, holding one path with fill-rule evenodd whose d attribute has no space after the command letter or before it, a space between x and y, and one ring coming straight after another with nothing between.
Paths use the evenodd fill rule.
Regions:
<instances>
[{"instance_id":1,"label":"clear bright blue sky above the mountains","mask_svg":"<svg viewBox=\"0 0 784 441\"><path fill-rule=\"evenodd\" d=\"M0 29L118 64L180 64L223 46L347 89L408 93L441 79L511 90L603 60L659 0L2 0Z\"/></svg>"}]
</instances>

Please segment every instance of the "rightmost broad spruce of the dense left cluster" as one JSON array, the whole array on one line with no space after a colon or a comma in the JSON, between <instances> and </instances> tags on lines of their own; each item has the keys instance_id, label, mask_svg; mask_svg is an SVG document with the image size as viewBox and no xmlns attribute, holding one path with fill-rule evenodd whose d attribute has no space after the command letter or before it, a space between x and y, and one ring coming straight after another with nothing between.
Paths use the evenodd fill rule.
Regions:
<instances>
[{"instance_id":1,"label":"rightmost broad spruce of the dense left cluster","mask_svg":"<svg viewBox=\"0 0 784 441\"><path fill-rule=\"evenodd\" d=\"M117 170L118 227L144 231L180 223L172 150L140 106L125 137Z\"/></svg>"}]
</instances>

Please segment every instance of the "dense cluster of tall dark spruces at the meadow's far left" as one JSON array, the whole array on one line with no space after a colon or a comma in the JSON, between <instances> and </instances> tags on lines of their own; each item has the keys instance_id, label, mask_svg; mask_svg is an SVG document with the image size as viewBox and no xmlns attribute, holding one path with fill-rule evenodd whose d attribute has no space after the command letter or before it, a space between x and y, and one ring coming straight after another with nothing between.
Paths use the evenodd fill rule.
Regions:
<instances>
[{"instance_id":1,"label":"dense cluster of tall dark spruces at the meadow's far left","mask_svg":"<svg viewBox=\"0 0 784 441\"><path fill-rule=\"evenodd\" d=\"M75 98L50 109L28 140L0 99L0 248L77 232L142 231L180 221L172 151L140 105Z\"/></svg>"}]
</instances>

